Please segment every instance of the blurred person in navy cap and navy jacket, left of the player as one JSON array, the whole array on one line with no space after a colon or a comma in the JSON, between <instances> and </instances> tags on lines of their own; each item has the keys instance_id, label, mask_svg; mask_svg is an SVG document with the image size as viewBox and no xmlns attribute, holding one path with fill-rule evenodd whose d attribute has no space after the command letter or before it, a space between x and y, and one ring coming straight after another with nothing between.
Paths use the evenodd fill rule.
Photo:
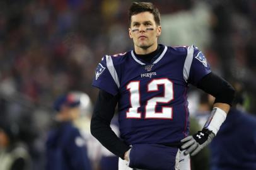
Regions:
<instances>
[{"instance_id":1,"label":"blurred person in navy cap and navy jacket, left of the player","mask_svg":"<svg viewBox=\"0 0 256 170\"><path fill-rule=\"evenodd\" d=\"M79 96L68 93L54 103L55 127L49 132L47 149L47 170L91 170L86 143L73 122L79 117Z\"/></svg>"}]
</instances>

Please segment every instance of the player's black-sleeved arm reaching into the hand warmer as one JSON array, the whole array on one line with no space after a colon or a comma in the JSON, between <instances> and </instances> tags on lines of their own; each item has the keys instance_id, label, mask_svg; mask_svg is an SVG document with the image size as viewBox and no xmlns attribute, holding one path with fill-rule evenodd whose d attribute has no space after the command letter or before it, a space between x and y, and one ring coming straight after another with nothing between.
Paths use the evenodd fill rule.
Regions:
<instances>
[{"instance_id":1,"label":"player's black-sleeved arm reaching into the hand warmer","mask_svg":"<svg viewBox=\"0 0 256 170\"><path fill-rule=\"evenodd\" d=\"M100 90L91 118L91 134L110 152L124 159L124 154L130 149L110 128L110 122L115 113L118 96L113 96Z\"/></svg>"}]
</instances>

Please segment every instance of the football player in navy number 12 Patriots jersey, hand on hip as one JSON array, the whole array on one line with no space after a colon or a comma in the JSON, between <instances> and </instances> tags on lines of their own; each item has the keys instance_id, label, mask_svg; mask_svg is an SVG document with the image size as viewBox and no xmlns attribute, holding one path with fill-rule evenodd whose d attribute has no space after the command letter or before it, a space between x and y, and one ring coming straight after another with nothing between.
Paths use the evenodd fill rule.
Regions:
<instances>
[{"instance_id":1,"label":"football player in navy number 12 Patriots jersey, hand on hip","mask_svg":"<svg viewBox=\"0 0 256 170\"><path fill-rule=\"evenodd\" d=\"M160 13L151 3L132 3L129 36L134 50L105 55L93 86L100 89L91 133L120 157L119 169L190 169L226 118L234 89L213 74L194 46L158 44ZM189 134L189 84L216 97L202 131ZM118 103L120 139L110 128Z\"/></svg>"}]
</instances>

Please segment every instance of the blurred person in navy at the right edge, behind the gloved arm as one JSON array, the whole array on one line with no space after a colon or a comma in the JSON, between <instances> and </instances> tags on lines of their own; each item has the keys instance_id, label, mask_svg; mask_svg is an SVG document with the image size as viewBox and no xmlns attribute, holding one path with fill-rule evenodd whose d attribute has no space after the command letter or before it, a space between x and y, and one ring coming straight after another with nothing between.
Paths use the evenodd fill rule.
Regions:
<instances>
[{"instance_id":1,"label":"blurred person in navy at the right edge, behind the gloved arm","mask_svg":"<svg viewBox=\"0 0 256 170\"><path fill-rule=\"evenodd\" d=\"M243 108L243 85L235 82L234 87L234 104L210 144L211 170L256 169L256 117Z\"/></svg>"}]
</instances>

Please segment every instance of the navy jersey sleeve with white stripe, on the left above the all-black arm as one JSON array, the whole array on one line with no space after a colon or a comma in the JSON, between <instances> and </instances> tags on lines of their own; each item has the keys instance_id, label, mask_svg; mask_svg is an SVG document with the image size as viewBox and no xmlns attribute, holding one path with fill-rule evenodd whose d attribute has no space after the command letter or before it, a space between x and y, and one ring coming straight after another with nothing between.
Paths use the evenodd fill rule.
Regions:
<instances>
[{"instance_id":1,"label":"navy jersey sleeve with white stripe, on the left above the all-black arm","mask_svg":"<svg viewBox=\"0 0 256 170\"><path fill-rule=\"evenodd\" d=\"M118 77L110 56L105 56L97 65L92 86L115 96L119 92Z\"/></svg>"}]
</instances>

